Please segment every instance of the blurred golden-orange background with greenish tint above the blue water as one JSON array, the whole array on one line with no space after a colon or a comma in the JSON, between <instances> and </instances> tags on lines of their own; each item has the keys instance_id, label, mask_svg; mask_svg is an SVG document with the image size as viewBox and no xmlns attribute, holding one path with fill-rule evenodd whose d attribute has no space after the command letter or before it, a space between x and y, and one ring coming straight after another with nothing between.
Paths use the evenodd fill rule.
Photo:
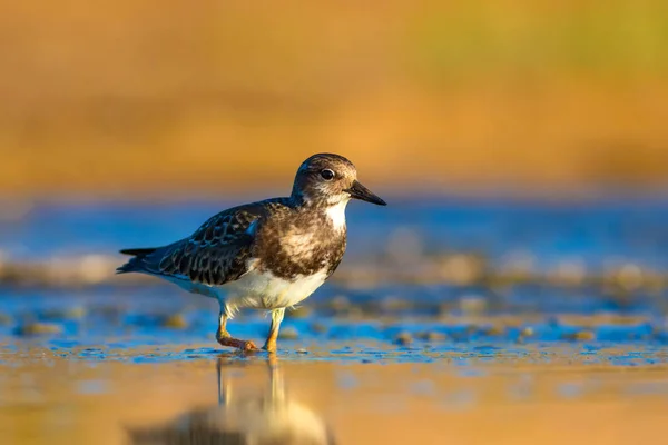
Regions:
<instances>
[{"instance_id":1,"label":"blurred golden-orange background with greenish tint above the blue water","mask_svg":"<svg viewBox=\"0 0 668 445\"><path fill-rule=\"evenodd\" d=\"M665 0L6 2L0 195L668 185ZM384 190L383 190L384 188Z\"/></svg>"}]
</instances>

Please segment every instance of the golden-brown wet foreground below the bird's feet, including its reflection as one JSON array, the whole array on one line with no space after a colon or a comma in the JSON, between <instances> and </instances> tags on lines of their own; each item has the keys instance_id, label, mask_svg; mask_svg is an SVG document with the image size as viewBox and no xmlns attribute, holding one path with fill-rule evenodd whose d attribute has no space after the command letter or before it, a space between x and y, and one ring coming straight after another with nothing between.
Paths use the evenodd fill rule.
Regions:
<instances>
[{"instance_id":1,"label":"golden-brown wet foreground below the bird's feet, including its reflection","mask_svg":"<svg viewBox=\"0 0 668 445\"><path fill-rule=\"evenodd\" d=\"M136 363L28 348L0 357L0 431L2 443L52 445L212 437L314 444L660 442L666 365L586 365L573 363L568 352L546 352L554 354L551 364L528 355L462 366L448 357L362 364L335 354L314 360L287 353L272 360L216 350ZM135 357L151 353L165 350L143 348Z\"/></svg>"}]
</instances>

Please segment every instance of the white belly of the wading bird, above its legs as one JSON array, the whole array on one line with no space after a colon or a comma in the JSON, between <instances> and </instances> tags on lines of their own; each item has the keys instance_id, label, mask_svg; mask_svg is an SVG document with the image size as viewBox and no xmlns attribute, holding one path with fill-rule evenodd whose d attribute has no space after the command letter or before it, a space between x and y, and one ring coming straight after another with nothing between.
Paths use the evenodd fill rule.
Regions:
<instances>
[{"instance_id":1,"label":"white belly of the wading bird, above its legs","mask_svg":"<svg viewBox=\"0 0 668 445\"><path fill-rule=\"evenodd\" d=\"M220 299L232 310L243 307L255 309L291 307L313 294L326 278L326 270L311 276L298 276L295 279L284 279L271 273L250 270L238 280L222 286Z\"/></svg>"}]
</instances>

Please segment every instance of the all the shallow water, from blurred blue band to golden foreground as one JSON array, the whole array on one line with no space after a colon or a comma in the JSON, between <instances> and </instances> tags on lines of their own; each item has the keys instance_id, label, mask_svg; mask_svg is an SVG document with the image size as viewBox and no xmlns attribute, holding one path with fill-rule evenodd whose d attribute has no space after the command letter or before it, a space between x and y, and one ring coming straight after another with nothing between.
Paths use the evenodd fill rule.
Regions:
<instances>
[{"instance_id":1,"label":"all the shallow water, from blurred blue band to golden foreground","mask_svg":"<svg viewBox=\"0 0 668 445\"><path fill-rule=\"evenodd\" d=\"M36 261L163 244L217 207L38 205L0 218L0 250ZM380 257L401 266L453 251L491 268L519 253L533 273L574 260L593 275L632 264L662 276L668 258L660 200L397 202L348 215L341 276L385 267ZM215 301L124 279L0 284L0 443L662 442L660 280L333 280L287 315L269 357L217 346ZM262 343L268 323L242 313L229 330Z\"/></svg>"}]
</instances>

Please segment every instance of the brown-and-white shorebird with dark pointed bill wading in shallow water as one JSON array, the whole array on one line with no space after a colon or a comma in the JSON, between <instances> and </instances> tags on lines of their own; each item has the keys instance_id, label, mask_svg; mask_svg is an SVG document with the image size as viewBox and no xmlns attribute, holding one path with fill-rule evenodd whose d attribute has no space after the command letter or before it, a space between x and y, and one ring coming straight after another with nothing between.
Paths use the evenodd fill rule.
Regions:
<instances>
[{"instance_id":1,"label":"brown-and-white shorebird with dark pointed bill wading in shallow water","mask_svg":"<svg viewBox=\"0 0 668 445\"><path fill-rule=\"evenodd\" d=\"M245 308L268 310L263 349L276 353L285 309L310 297L343 259L351 199L386 205L357 180L348 159L316 154L301 164L289 196L220 211L167 246L122 249L131 258L116 271L155 276L218 300L216 339L224 347L258 350L253 340L233 337L227 320Z\"/></svg>"}]
</instances>

